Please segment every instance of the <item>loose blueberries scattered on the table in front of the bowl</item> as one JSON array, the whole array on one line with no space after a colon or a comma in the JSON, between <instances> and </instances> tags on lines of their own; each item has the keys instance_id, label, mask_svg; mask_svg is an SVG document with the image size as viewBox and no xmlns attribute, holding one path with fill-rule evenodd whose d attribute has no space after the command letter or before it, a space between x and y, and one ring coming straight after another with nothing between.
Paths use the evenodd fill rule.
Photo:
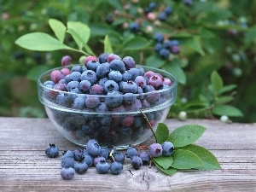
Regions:
<instances>
[{"instance_id":1,"label":"loose blueberries scattered on the table in front of the bowl","mask_svg":"<svg viewBox=\"0 0 256 192\"><path fill-rule=\"evenodd\" d=\"M173 151L174 147L170 142L153 143L147 151L138 151L134 147L127 148L125 158L125 154L118 152L116 148L101 148L95 139L90 139L86 148L67 150L62 154L61 177L72 179L75 172L84 174L91 166L95 166L96 172L99 174L111 172L114 175L119 175L123 172L125 159L130 160L130 164L127 166L131 165L133 169L139 170L143 165L149 165L152 157L170 156ZM59 155L59 148L55 144L49 144L49 147L45 149L45 154L50 158L55 158Z\"/></svg>"}]
</instances>

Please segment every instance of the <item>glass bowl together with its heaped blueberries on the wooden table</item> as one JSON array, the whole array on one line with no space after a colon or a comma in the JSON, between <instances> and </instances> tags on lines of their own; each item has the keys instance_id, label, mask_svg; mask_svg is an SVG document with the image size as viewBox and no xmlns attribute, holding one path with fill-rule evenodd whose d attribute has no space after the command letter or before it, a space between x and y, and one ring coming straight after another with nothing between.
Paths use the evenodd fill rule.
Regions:
<instances>
[{"instance_id":1,"label":"glass bowl together with its heaped blueberries on the wooden table","mask_svg":"<svg viewBox=\"0 0 256 192\"><path fill-rule=\"evenodd\" d=\"M137 65L130 56L88 56L83 65L62 65L38 78L38 99L50 121L83 147L90 139L102 147L143 143L176 97L175 76Z\"/></svg>"}]
</instances>

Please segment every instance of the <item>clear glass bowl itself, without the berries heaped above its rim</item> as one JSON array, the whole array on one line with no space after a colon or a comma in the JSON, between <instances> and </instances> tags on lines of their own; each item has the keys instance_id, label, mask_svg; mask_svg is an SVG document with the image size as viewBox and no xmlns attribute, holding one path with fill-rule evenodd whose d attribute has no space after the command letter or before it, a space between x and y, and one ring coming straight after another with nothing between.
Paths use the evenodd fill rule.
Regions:
<instances>
[{"instance_id":1,"label":"clear glass bowl itself, without the berries heaped above its rim","mask_svg":"<svg viewBox=\"0 0 256 192\"><path fill-rule=\"evenodd\" d=\"M72 67L69 66L69 68ZM44 82L50 79L53 70L62 68L57 67L42 73L38 78L38 99L44 104L46 113L55 128L72 143L85 147L90 138L95 138L101 147L128 148L129 145L138 145L153 135L148 121L154 131L158 123L165 121L167 113L176 101L177 79L171 73L154 67L139 65L137 67L143 67L145 72L150 70L160 73L163 77L171 79L172 85L163 90L133 94L132 98L138 101L138 108L127 108L125 102L122 102L118 107L108 108L103 113L99 113L98 110L85 106L82 109L61 106L56 102L56 96L64 94L67 100L77 96L93 97L103 104L109 99L124 101L131 96L121 95L113 98L107 95L77 94L51 89L45 86Z\"/></svg>"}]
</instances>

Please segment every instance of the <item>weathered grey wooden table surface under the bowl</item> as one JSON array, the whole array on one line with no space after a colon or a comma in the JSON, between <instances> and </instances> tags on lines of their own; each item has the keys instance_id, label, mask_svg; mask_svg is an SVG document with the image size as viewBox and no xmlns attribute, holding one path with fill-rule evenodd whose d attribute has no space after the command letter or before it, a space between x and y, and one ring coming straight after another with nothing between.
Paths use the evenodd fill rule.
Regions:
<instances>
[{"instance_id":1,"label":"weathered grey wooden table surface under the bowl","mask_svg":"<svg viewBox=\"0 0 256 192\"><path fill-rule=\"evenodd\" d=\"M256 191L256 124L207 119L166 119L165 123L171 131L185 124L207 127L196 144L209 149L222 169L166 176L154 166L136 171L128 165L115 176L97 174L95 167L90 167L85 174L64 180L61 155L48 158L44 150L49 143L55 143L60 154L79 147L62 137L49 119L2 117L0 191ZM148 139L146 144L153 141Z\"/></svg>"}]
</instances>

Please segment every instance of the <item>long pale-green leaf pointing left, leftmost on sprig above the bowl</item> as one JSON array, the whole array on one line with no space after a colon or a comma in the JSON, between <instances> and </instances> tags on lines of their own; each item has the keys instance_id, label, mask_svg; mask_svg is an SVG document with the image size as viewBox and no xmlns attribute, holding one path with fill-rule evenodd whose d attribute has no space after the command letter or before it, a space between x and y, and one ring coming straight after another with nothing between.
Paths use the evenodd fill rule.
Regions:
<instances>
[{"instance_id":1,"label":"long pale-green leaf pointing left, leftmost on sprig above the bowl","mask_svg":"<svg viewBox=\"0 0 256 192\"><path fill-rule=\"evenodd\" d=\"M23 35L15 41L15 44L25 49L38 51L67 49L67 45L44 32L32 32Z\"/></svg>"}]
</instances>

